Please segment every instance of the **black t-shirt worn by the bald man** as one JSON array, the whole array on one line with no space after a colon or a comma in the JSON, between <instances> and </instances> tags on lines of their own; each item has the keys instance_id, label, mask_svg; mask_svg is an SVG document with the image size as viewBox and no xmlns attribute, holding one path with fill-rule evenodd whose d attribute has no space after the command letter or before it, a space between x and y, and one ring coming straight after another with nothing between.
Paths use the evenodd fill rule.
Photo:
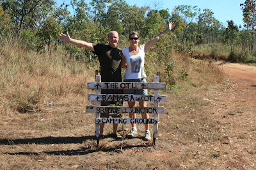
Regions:
<instances>
[{"instance_id":1,"label":"black t-shirt worn by the bald man","mask_svg":"<svg viewBox=\"0 0 256 170\"><path fill-rule=\"evenodd\" d=\"M94 54L100 61L100 75L102 82L122 82L121 59L122 50L109 45L93 44Z\"/></svg>"}]
</instances>

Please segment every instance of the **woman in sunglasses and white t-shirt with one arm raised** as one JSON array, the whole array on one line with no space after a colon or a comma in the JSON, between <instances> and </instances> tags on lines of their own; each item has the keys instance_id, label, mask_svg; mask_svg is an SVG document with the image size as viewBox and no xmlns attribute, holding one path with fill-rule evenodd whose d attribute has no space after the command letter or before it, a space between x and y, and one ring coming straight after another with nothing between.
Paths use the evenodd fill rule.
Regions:
<instances>
[{"instance_id":1,"label":"woman in sunglasses and white t-shirt with one arm raised","mask_svg":"<svg viewBox=\"0 0 256 170\"><path fill-rule=\"evenodd\" d=\"M122 50L122 65L125 65L125 61L127 64L126 72L124 75L125 82L146 82L146 74L144 72L144 61L145 61L145 52L154 45L160 38L162 38L166 33L168 33L175 24L173 22L169 22L168 27L155 38L150 40L149 42L138 46L140 42L140 35L137 32L132 32L129 35L129 42L131 47L124 48ZM124 89L124 94L134 94L134 95L147 95L147 89ZM129 107L135 107L135 102L128 102ZM147 107L147 102L139 102L140 107ZM149 118L148 113L141 114L142 118ZM130 113L129 118L136 118L135 113ZM132 129L127 135L128 138L134 137L137 134L136 124L131 124ZM150 131L149 125L145 125L145 141L150 141Z\"/></svg>"}]
</instances>

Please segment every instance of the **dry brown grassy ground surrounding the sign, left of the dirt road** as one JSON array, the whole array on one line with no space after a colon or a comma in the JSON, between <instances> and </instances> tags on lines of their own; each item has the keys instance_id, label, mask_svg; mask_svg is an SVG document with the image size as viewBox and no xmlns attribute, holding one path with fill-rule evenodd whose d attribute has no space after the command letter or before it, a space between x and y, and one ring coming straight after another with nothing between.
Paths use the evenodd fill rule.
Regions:
<instances>
[{"instance_id":1,"label":"dry brown grassy ground surrounding the sign, left of the dirt road","mask_svg":"<svg viewBox=\"0 0 256 170\"><path fill-rule=\"evenodd\" d=\"M97 68L88 68L64 53L36 54L18 44L6 44L0 54L2 169L225 167L218 165L224 161L225 152L211 145L229 143L230 139L220 133L223 124L212 119L214 111L209 107L210 101L218 98L214 91L227 86L222 70L209 61L178 54L164 59L177 64L173 68L175 84L161 91L168 102L161 104L166 114L159 117L157 145L142 140L144 127L138 125L139 136L125 139L120 150L121 142L110 137L95 145L94 114L85 112L85 106L90 105L86 96L93 93L86 89L86 82L94 81ZM148 82L157 71L164 77L162 62L152 58L147 66ZM182 68L188 72L188 79L180 78ZM123 130L128 132L130 126L125 125ZM111 125L106 125L104 134L109 133ZM239 134L239 139L246 136ZM255 156L255 149L248 152ZM225 163L228 161L232 158Z\"/></svg>"}]
</instances>

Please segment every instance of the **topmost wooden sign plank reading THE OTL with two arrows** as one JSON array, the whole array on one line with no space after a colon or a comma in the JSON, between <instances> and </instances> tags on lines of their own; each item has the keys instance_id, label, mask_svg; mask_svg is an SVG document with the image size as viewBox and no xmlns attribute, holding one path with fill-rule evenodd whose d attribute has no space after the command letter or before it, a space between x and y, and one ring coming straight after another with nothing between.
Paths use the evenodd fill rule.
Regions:
<instances>
[{"instance_id":1,"label":"topmost wooden sign plank reading THE OTL with two arrows","mask_svg":"<svg viewBox=\"0 0 256 170\"><path fill-rule=\"evenodd\" d=\"M87 82L88 89L166 89L165 82Z\"/></svg>"}]
</instances>

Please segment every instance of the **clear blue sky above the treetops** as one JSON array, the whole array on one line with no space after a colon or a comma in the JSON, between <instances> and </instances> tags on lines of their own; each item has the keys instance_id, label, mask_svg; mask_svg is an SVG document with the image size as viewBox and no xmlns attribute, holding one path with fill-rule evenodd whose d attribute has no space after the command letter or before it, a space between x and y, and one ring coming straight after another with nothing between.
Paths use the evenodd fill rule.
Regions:
<instances>
[{"instance_id":1,"label":"clear blue sky above the treetops","mask_svg":"<svg viewBox=\"0 0 256 170\"><path fill-rule=\"evenodd\" d=\"M56 0L57 4L63 2L69 3L70 0L60 1ZM198 6L201 10L208 8L214 12L214 17L227 27L227 20L233 20L234 24L237 26L243 26L243 12L240 7L240 3L244 3L245 0L126 0L129 5L136 4L137 6L150 6L150 8L155 9L157 7L161 9L169 9L172 13L173 8L178 5L191 5ZM86 3L90 3L86 0Z\"/></svg>"}]
</instances>

